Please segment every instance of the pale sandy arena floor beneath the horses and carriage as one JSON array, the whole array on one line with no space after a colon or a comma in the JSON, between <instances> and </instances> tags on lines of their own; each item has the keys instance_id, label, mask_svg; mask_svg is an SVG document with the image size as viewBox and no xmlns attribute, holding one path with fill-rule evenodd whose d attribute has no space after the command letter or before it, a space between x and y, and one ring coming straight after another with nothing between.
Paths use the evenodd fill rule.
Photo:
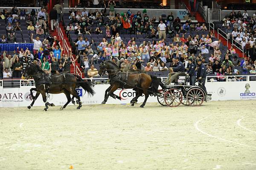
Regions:
<instances>
[{"instance_id":1,"label":"pale sandy arena floor beneath the horses and carriage","mask_svg":"<svg viewBox=\"0 0 256 170\"><path fill-rule=\"evenodd\" d=\"M0 169L255 170L255 105L0 108Z\"/></svg>"}]
</instances>

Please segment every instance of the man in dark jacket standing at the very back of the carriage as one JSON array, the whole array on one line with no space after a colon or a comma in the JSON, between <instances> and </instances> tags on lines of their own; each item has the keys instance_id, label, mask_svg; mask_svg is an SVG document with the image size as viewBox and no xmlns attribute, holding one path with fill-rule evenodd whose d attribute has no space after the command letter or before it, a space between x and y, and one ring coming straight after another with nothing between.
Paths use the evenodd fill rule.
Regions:
<instances>
[{"instance_id":1,"label":"man in dark jacket standing at the very back of the carriage","mask_svg":"<svg viewBox=\"0 0 256 170\"><path fill-rule=\"evenodd\" d=\"M199 86L204 90L204 92L207 95L207 90L206 87L204 86L206 81L206 67L202 63L201 59L198 60L197 79Z\"/></svg>"}]
</instances>

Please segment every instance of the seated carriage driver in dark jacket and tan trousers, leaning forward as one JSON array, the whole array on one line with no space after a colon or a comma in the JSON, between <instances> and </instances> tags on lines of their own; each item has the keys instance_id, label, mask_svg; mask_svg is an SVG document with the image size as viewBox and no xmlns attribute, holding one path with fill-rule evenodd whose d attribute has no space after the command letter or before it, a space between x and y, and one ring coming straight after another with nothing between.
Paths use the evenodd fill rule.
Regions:
<instances>
[{"instance_id":1,"label":"seated carriage driver in dark jacket and tan trousers, leaning forward","mask_svg":"<svg viewBox=\"0 0 256 170\"><path fill-rule=\"evenodd\" d=\"M165 85L169 85L170 83L177 83L177 79L179 76L185 76L185 66L184 64L180 61L180 58L175 59L177 66L170 68L170 73L168 75L167 81Z\"/></svg>"}]
</instances>

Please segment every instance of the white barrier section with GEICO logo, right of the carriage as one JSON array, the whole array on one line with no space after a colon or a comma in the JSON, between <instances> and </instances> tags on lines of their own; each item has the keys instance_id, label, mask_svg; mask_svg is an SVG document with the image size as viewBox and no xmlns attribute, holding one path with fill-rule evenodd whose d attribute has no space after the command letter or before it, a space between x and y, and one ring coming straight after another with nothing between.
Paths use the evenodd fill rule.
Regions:
<instances>
[{"instance_id":1,"label":"white barrier section with GEICO logo, right of the carriage","mask_svg":"<svg viewBox=\"0 0 256 170\"><path fill-rule=\"evenodd\" d=\"M256 99L255 81L207 82L205 86L213 101Z\"/></svg>"}]
</instances>

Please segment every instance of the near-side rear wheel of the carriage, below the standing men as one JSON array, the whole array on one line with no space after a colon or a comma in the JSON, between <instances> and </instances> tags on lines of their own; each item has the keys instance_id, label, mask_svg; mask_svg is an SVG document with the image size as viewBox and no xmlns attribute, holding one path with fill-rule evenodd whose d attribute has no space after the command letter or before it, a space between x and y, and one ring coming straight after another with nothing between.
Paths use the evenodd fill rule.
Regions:
<instances>
[{"instance_id":1,"label":"near-side rear wheel of the carriage, below the standing men","mask_svg":"<svg viewBox=\"0 0 256 170\"><path fill-rule=\"evenodd\" d=\"M204 92L198 88L192 88L187 92L186 99L190 106L201 106L204 102Z\"/></svg>"}]
</instances>

